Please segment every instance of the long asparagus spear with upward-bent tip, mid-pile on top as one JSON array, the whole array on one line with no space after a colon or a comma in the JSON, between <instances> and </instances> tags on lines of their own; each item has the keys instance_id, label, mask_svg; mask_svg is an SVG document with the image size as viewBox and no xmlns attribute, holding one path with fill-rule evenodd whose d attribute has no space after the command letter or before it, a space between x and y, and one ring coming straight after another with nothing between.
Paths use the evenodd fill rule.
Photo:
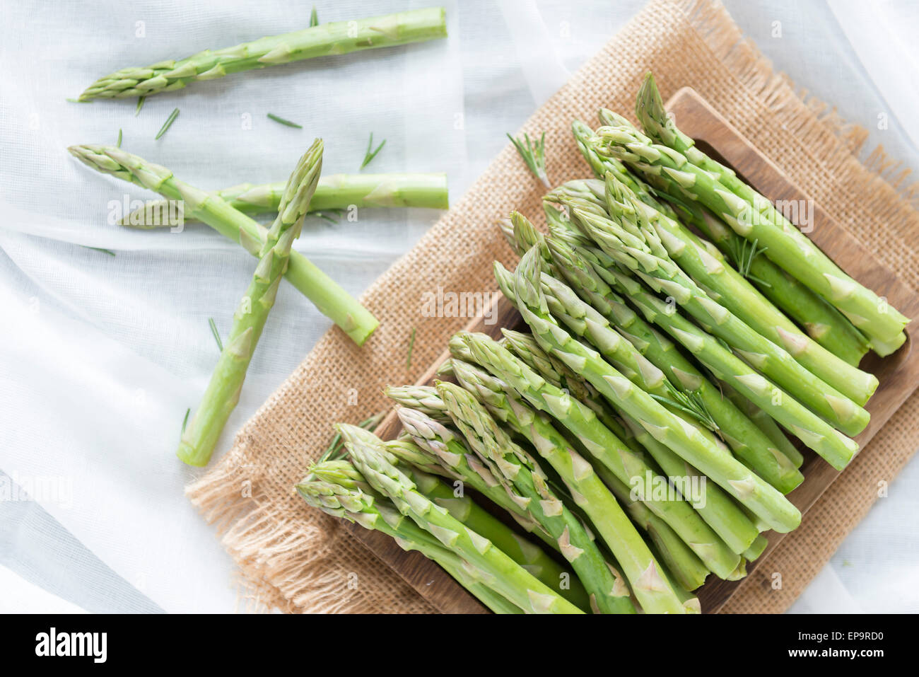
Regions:
<instances>
[{"instance_id":1,"label":"long asparagus spear with upward-bent tip, mid-pile on top","mask_svg":"<svg viewBox=\"0 0 919 677\"><path fill-rule=\"evenodd\" d=\"M641 388L635 387L621 373L559 327L548 312L540 292L541 259L534 247L521 259L515 274L517 308L533 330L543 350L562 361L593 384L609 402L648 430L658 442L697 467L711 481L741 501L778 532L789 532L800 523L800 512L763 479L724 453L698 429L668 411ZM714 569L713 569L714 570Z\"/></svg>"}]
</instances>

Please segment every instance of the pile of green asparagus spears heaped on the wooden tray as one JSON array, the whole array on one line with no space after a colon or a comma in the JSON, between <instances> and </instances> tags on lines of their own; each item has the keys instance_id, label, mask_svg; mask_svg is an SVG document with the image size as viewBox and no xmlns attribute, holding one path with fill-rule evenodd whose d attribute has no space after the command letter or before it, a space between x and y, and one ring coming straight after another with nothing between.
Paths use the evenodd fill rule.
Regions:
<instances>
[{"instance_id":1,"label":"pile of green asparagus spears heaped on the wooden tray","mask_svg":"<svg viewBox=\"0 0 919 677\"><path fill-rule=\"evenodd\" d=\"M803 455L789 437L837 469L857 453L850 436L878 385L858 361L895 350L906 324L700 153L650 75L638 103L648 136L599 115L596 132L573 123L595 178L550 190L548 234L517 212L501 223L521 258L516 270L495 263L495 279L529 332L459 332L439 371L455 383L387 389L403 438L359 433L391 454L390 480L368 489L395 506L387 523L422 529L394 534L400 545L499 613L571 611L560 598L595 613L698 612L693 591L709 576L742 578L764 532L799 525L786 494L804 481ZM352 449L360 471L367 456ZM421 519L439 480L415 481L427 502L403 495L403 476L431 473L475 494L446 532ZM335 492L307 499L355 519ZM478 526L486 503L513 521ZM501 574L473 561L471 531L478 552L560 578L539 578L549 592L516 569L489 578ZM515 544L528 537L541 543L524 555ZM579 596L560 585L568 574Z\"/></svg>"}]
</instances>

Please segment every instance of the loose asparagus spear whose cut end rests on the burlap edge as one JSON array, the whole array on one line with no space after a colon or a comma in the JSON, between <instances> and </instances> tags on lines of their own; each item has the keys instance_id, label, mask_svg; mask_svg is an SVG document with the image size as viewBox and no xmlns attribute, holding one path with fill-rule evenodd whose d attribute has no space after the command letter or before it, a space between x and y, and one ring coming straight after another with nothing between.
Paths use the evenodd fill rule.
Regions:
<instances>
[{"instance_id":1,"label":"loose asparagus spear whose cut end rests on the burlap edge","mask_svg":"<svg viewBox=\"0 0 919 677\"><path fill-rule=\"evenodd\" d=\"M96 171L151 189L168 200L181 201L189 216L238 242L253 256L259 255L266 242L266 228L226 202L178 180L164 166L153 165L114 146L74 145L68 150ZM299 252L290 252L286 277L358 346L379 326L376 317Z\"/></svg>"}]
</instances>

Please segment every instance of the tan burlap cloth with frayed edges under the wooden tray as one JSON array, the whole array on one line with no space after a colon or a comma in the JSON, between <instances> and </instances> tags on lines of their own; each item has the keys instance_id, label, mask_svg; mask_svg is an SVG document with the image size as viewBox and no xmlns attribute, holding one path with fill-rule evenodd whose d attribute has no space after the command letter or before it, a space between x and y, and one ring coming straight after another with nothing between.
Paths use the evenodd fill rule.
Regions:
<instances>
[{"instance_id":1,"label":"tan burlap cloth with frayed edges under the wooden tray","mask_svg":"<svg viewBox=\"0 0 919 677\"><path fill-rule=\"evenodd\" d=\"M828 58L829 55L828 55ZM654 0L528 120L546 130L553 182L588 174L569 132L573 118L596 123L600 106L630 114L651 69L664 98L693 86L773 158L805 193L852 229L903 281L919 289L919 215L905 173L883 152L857 159L866 132L794 90L720 4ZM494 227L512 209L539 217L539 183L508 145L424 238L376 281L363 302L380 329L357 349L330 330L238 433L233 449L188 488L239 563L241 594L255 608L288 612L433 612L402 579L336 520L306 507L292 486L328 443L335 421L357 422L386 407L381 388L414 383L466 317L423 315L425 292L494 290L492 261L511 253ZM411 369L406 352L417 330ZM823 567L845 535L919 444L919 395L859 453L725 606L728 612L782 612ZM782 578L780 590L772 573Z\"/></svg>"}]
</instances>

